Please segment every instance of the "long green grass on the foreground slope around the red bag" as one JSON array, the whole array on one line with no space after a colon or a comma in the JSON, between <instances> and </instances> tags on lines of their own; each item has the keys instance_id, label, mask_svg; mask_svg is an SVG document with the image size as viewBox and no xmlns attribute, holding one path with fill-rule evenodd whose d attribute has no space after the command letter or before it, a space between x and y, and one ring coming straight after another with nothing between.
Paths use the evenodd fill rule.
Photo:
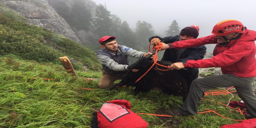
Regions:
<instances>
[{"instance_id":1,"label":"long green grass on the foreground slope around the red bag","mask_svg":"<svg viewBox=\"0 0 256 128\"><path fill-rule=\"evenodd\" d=\"M62 65L23 60L12 54L0 56L0 126L1 127L90 127L93 111L100 109L106 101L115 98L131 102L135 113L163 114L163 109L181 105L182 97L165 95L157 90L133 96L132 88L113 91L97 88L101 72L76 70L79 77L67 74ZM53 78L55 80L43 80ZM82 88L97 90L84 90ZM232 100L240 98L234 94ZM231 95L205 96L206 99L227 104ZM243 115L214 101L201 100L199 111L204 108L217 111L231 119L242 119ZM158 117L141 115L150 128L217 128L238 123L221 118L214 113L203 113L184 117ZM173 123L176 121L178 123Z\"/></svg>"}]
</instances>

